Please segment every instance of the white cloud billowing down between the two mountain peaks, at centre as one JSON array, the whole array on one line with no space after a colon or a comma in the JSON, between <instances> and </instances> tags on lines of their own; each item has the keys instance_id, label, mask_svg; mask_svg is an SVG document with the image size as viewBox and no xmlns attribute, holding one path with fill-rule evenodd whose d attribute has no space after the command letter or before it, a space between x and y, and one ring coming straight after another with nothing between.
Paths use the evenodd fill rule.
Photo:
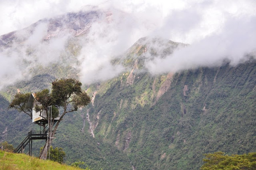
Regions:
<instances>
[{"instance_id":1,"label":"white cloud billowing down between the two mountain peaks, at centre","mask_svg":"<svg viewBox=\"0 0 256 170\"><path fill-rule=\"evenodd\" d=\"M152 22L147 22L148 16L142 15L139 19L111 6L104 10L109 16L100 16L92 23L85 40L81 40L83 47L78 67L80 79L86 84L108 80L123 72L125 68L120 64L113 65L112 60L124 54L141 36L148 36L151 32L148 26L151 27Z\"/></svg>"}]
</instances>

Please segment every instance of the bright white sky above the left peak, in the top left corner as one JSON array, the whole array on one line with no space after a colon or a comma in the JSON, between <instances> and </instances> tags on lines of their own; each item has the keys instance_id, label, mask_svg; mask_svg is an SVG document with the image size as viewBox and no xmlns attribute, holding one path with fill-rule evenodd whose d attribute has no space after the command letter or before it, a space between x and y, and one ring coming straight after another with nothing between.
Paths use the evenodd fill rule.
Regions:
<instances>
[{"instance_id":1,"label":"bright white sky above the left peak, in the top left corner","mask_svg":"<svg viewBox=\"0 0 256 170\"><path fill-rule=\"evenodd\" d=\"M97 5L103 0L8 0L0 2L0 35L20 30L43 18L77 12L82 6Z\"/></svg>"}]
</instances>

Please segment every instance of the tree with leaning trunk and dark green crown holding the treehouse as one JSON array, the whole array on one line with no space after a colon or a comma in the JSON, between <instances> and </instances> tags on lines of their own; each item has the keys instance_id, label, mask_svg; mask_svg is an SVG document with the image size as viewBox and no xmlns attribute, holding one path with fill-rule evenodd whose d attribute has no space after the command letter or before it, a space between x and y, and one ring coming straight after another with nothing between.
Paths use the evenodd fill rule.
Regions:
<instances>
[{"instance_id":1,"label":"tree with leaning trunk and dark green crown holding the treehouse","mask_svg":"<svg viewBox=\"0 0 256 170\"><path fill-rule=\"evenodd\" d=\"M41 104L36 106L36 111L42 112L43 110L45 110L46 114L48 115L48 108L50 106L52 106L54 113L58 112L56 111L55 106L62 108L62 112L60 113L60 119L55 120L55 123L54 119L52 119L51 123L48 125L50 134L42 149L42 152L40 153L40 159L46 159L46 153L48 153L50 143L52 142L55 132L64 115L68 112L74 112L78 110L78 108L82 108L90 103L90 97L85 91L82 91L81 86L82 83L79 80L75 80L73 78L60 80L57 79L52 82L51 92L48 89L44 89L35 94L36 100ZM25 112L30 117L32 117L32 109L26 108L26 103L28 102L29 95L29 93L16 94L9 107L16 108L20 112Z\"/></svg>"}]
</instances>

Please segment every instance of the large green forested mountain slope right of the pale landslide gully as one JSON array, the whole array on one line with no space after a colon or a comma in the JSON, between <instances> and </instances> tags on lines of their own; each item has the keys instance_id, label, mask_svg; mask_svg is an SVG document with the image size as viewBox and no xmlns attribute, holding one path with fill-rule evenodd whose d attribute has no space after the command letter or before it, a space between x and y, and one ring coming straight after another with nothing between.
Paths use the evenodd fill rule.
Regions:
<instances>
[{"instance_id":1,"label":"large green forested mountain slope right of the pale landslide gully","mask_svg":"<svg viewBox=\"0 0 256 170\"><path fill-rule=\"evenodd\" d=\"M111 80L90 109L136 169L198 169L203 153L255 152L256 62Z\"/></svg>"}]
</instances>

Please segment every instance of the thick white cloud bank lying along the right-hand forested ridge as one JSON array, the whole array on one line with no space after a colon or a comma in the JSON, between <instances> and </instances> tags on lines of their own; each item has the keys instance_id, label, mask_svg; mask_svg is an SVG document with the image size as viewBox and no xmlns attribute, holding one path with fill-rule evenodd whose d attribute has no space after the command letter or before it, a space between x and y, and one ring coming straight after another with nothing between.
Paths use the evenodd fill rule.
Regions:
<instances>
[{"instance_id":1,"label":"thick white cloud bank lying along the right-hand forested ridge","mask_svg":"<svg viewBox=\"0 0 256 170\"><path fill-rule=\"evenodd\" d=\"M175 50L166 58L155 58L146 67L152 74L177 72L202 66L220 66L230 61L233 66L256 58L256 17L230 17L221 32L206 36L185 48ZM161 47L159 47L161 48Z\"/></svg>"}]
</instances>

